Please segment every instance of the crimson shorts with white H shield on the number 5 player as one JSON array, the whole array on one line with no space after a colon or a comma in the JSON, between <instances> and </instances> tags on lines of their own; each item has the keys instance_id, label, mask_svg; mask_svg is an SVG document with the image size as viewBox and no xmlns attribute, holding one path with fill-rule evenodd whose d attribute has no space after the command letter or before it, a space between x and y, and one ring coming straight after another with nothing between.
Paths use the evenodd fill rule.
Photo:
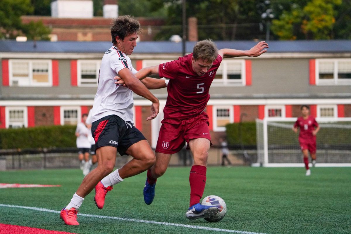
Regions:
<instances>
[{"instance_id":1,"label":"crimson shorts with white H shield on the number 5 player","mask_svg":"<svg viewBox=\"0 0 351 234\"><path fill-rule=\"evenodd\" d=\"M161 123L156 152L177 153L191 139L206 138L211 141L208 116L204 112L189 119L164 119Z\"/></svg>"}]
</instances>

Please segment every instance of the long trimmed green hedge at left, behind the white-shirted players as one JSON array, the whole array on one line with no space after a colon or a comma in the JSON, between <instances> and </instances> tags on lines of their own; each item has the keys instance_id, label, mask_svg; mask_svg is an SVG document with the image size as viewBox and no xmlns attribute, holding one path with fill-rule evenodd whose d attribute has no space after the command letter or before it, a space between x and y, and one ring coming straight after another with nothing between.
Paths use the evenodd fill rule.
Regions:
<instances>
[{"instance_id":1,"label":"long trimmed green hedge at left, behind the white-shirted players","mask_svg":"<svg viewBox=\"0 0 351 234\"><path fill-rule=\"evenodd\" d=\"M75 128L65 125L1 129L0 149L76 147Z\"/></svg>"}]
</instances>

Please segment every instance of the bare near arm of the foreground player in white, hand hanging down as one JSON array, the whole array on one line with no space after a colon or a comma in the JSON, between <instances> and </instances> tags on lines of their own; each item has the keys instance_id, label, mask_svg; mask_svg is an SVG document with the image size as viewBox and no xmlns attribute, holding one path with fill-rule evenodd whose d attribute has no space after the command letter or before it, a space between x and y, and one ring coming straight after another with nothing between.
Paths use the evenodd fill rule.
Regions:
<instances>
[{"instance_id":1,"label":"bare near arm of the foreground player in white, hand hanging down","mask_svg":"<svg viewBox=\"0 0 351 234\"><path fill-rule=\"evenodd\" d=\"M135 94L138 94L141 97L145 97L146 99L149 99L152 102L151 116L147 117L146 120L156 118L160 108L160 102L158 101L158 99L145 87L143 83L141 83L140 80L137 79L137 77L134 76L132 71L128 68L120 70L118 72L118 75L122 78L122 80L128 86L128 88L135 92Z\"/></svg>"}]
</instances>

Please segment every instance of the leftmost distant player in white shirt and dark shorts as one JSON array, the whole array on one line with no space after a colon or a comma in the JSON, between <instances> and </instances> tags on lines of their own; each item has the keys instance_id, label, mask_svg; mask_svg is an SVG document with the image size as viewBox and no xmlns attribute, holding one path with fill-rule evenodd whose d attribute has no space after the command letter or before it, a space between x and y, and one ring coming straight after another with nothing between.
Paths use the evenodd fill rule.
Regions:
<instances>
[{"instance_id":1,"label":"leftmost distant player in white shirt and dark shorts","mask_svg":"<svg viewBox=\"0 0 351 234\"><path fill-rule=\"evenodd\" d=\"M83 170L86 167L86 164L89 160L89 149L91 144L89 142L89 129L87 128L85 121L87 119L87 114L84 113L82 115L82 122L77 124L77 128L75 129L75 136L77 137L76 144L78 148L78 159L80 161L80 170Z\"/></svg>"}]
</instances>

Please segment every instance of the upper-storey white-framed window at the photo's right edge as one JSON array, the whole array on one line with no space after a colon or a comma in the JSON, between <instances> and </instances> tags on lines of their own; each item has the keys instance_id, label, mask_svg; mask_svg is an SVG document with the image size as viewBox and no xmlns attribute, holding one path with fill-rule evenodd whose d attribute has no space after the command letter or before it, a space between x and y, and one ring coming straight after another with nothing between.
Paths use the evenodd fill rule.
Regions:
<instances>
[{"instance_id":1,"label":"upper-storey white-framed window at the photo's right edge","mask_svg":"<svg viewBox=\"0 0 351 234\"><path fill-rule=\"evenodd\" d=\"M351 59L317 59L316 84L351 84Z\"/></svg>"}]
</instances>

